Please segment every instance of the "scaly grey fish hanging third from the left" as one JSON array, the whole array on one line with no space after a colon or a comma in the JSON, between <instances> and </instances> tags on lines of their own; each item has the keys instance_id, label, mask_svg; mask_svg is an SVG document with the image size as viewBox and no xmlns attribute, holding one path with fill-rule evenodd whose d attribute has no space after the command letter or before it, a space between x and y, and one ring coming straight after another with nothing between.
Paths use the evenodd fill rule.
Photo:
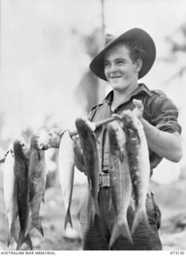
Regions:
<instances>
[{"instance_id":1,"label":"scaly grey fish hanging third from the left","mask_svg":"<svg viewBox=\"0 0 186 256\"><path fill-rule=\"evenodd\" d=\"M46 158L45 150L42 150L41 147L40 134L35 131L30 138L29 202L31 216L26 234L29 234L30 230L35 228L44 236L39 211L41 202L45 202Z\"/></svg>"}]
</instances>

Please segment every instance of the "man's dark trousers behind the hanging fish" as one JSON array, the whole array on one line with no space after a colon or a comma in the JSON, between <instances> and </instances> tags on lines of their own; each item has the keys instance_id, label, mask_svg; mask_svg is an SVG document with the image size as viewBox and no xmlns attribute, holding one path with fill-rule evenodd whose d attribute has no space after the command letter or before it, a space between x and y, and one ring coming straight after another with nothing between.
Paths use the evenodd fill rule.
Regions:
<instances>
[{"instance_id":1,"label":"man's dark trousers behind the hanging fish","mask_svg":"<svg viewBox=\"0 0 186 256\"><path fill-rule=\"evenodd\" d=\"M114 210L110 206L110 188L103 187L98 194L100 208L99 216L95 216L93 222L87 218L90 210L89 196L86 194L78 214L83 234L82 250L109 250L109 239L112 234ZM158 229L160 228L160 209L156 205L153 194L147 194L146 211L150 230L143 223L137 227L133 234L133 245L127 238L120 235L113 244L111 250L162 250ZM129 206L127 219L129 229L133 226L134 210Z\"/></svg>"}]
</instances>

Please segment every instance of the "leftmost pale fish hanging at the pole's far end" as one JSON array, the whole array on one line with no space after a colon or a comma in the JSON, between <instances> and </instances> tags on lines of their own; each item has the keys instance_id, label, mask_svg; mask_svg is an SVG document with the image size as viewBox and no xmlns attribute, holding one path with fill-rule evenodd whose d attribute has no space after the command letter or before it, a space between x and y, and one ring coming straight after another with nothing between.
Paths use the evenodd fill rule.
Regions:
<instances>
[{"instance_id":1,"label":"leftmost pale fish hanging at the pole's far end","mask_svg":"<svg viewBox=\"0 0 186 256\"><path fill-rule=\"evenodd\" d=\"M15 185L14 152L10 149L6 152L3 172L3 192L6 204L6 217L8 218L9 224L7 246L10 245L11 238L14 238L15 242L18 242L18 234L15 226L18 217L17 191Z\"/></svg>"}]
</instances>

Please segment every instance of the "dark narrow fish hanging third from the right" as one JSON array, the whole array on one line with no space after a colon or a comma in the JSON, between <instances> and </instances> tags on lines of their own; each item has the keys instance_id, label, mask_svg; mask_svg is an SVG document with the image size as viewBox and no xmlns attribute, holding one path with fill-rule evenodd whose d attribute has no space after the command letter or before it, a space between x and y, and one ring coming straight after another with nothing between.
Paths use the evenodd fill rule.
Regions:
<instances>
[{"instance_id":1,"label":"dark narrow fish hanging third from the right","mask_svg":"<svg viewBox=\"0 0 186 256\"><path fill-rule=\"evenodd\" d=\"M93 222L95 216L100 215L97 197L99 190L98 176L101 170L101 162L97 150L97 138L93 132L91 122L87 119L77 118L75 125L81 140L85 174L87 175L89 182L90 209L88 210L88 219L89 222Z\"/></svg>"}]
</instances>

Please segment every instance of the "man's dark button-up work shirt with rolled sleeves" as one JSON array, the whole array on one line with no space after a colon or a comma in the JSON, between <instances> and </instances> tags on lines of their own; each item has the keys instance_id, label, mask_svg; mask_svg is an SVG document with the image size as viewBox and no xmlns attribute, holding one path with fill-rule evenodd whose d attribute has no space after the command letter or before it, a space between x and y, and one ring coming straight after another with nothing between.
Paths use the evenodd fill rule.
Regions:
<instances>
[{"instance_id":1,"label":"man's dark button-up work shirt with rolled sleeves","mask_svg":"<svg viewBox=\"0 0 186 256\"><path fill-rule=\"evenodd\" d=\"M112 114L121 114L123 110L133 110L133 98L139 99L144 105L143 118L152 126L156 126L159 130L164 130L170 133L181 133L181 127L177 122L178 110L175 104L170 100L163 91L149 90L143 83L138 85L138 88L126 98L120 106L114 111L111 110L113 100L113 90L106 96L103 102L97 106L93 106L89 114L91 122L98 122L105 118L111 117ZM109 172L109 143L106 126L97 128L96 135L98 139L98 150L101 154L102 170ZM149 150L149 161L151 169L155 168L162 158Z\"/></svg>"}]
</instances>

